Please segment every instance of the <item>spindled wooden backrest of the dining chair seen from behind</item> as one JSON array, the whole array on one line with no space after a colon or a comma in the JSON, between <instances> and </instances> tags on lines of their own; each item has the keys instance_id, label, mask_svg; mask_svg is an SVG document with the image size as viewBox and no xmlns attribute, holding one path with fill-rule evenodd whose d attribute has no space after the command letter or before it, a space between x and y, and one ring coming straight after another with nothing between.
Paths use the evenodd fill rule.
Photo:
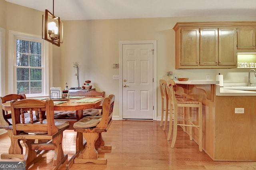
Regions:
<instances>
[{"instance_id":1,"label":"spindled wooden backrest of the dining chair seen from behind","mask_svg":"<svg viewBox=\"0 0 256 170\"><path fill-rule=\"evenodd\" d=\"M47 99L46 101L38 99L23 99L20 101L12 100L10 104L14 135L18 135L24 131L28 133L47 133L48 136L52 136L58 132L58 128L54 124L54 103L52 99ZM24 111L28 111L30 113L30 123L24 122ZM33 121L33 112L38 114L38 123L34 123ZM47 123L44 121L45 113Z\"/></svg>"}]
</instances>

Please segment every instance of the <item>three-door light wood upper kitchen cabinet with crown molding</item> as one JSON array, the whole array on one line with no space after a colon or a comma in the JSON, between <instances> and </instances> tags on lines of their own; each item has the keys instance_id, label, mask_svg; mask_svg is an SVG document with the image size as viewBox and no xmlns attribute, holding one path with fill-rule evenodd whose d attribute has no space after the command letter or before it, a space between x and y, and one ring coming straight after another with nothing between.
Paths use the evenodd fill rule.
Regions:
<instances>
[{"instance_id":1,"label":"three-door light wood upper kitchen cabinet with crown molding","mask_svg":"<svg viewBox=\"0 0 256 170\"><path fill-rule=\"evenodd\" d=\"M173 28L176 43L175 68L236 68L237 42L239 42L236 34L237 28L253 27L255 42L255 27L253 25L256 27L256 22L176 23Z\"/></svg>"}]
</instances>

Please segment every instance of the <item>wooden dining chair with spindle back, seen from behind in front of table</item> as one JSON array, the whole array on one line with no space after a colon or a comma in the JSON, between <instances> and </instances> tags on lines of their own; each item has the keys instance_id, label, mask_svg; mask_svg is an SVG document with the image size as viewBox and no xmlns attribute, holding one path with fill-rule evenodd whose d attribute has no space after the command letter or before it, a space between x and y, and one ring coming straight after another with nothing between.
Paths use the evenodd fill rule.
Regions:
<instances>
[{"instance_id":1,"label":"wooden dining chair with spindle back, seen from behind in front of table","mask_svg":"<svg viewBox=\"0 0 256 170\"><path fill-rule=\"evenodd\" d=\"M10 104L13 138L22 140L26 147L24 156L26 169L42 157L41 154L37 156L36 150L54 150L53 166L54 169L57 169L68 158L62 150L62 137L63 131L69 127L69 123L67 121L54 122L54 103L51 99L46 101L38 99L12 100ZM24 111L30 113L30 123L24 122ZM32 121L33 112L38 113L39 122L37 123ZM44 113L46 113L46 117ZM50 141L35 143L35 140Z\"/></svg>"}]
</instances>

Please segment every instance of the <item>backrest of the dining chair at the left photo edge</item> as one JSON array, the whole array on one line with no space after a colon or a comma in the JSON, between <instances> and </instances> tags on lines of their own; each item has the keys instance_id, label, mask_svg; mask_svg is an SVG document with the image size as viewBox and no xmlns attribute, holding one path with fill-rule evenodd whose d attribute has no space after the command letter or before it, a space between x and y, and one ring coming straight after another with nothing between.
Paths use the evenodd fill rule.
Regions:
<instances>
[{"instance_id":1,"label":"backrest of the dining chair at the left photo edge","mask_svg":"<svg viewBox=\"0 0 256 170\"><path fill-rule=\"evenodd\" d=\"M8 114L8 111L4 111L2 109L2 103L6 103L8 101L11 100L22 100L22 99L26 99L26 95L25 94L9 94L6 95L4 97L0 97L0 111L2 111L2 114L0 113L0 125L2 126L8 126L8 125L12 125L8 119L11 118L11 114Z\"/></svg>"}]
</instances>

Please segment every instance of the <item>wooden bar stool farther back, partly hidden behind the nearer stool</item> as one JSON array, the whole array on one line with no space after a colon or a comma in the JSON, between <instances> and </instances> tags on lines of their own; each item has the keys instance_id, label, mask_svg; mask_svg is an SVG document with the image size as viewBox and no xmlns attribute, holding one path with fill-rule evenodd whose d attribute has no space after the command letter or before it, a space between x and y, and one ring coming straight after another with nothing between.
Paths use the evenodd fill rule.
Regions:
<instances>
[{"instance_id":1,"label":"wooden bar stool farther back, partly hidden behind the nearer stool","mask_svg":"<svg viewBox=\"0 0 256 170\"><path fill-rule=\"evenodd\" d=\"M163 121L164 121L164 117L165 117L163 130L166 130L167 121L168 121L168 114L170 113L170 109L168 108L168 106L169 106L169 99L168 99L168 94L167 94L167 91L166 91L167 83L163 79L160 79L159 83L160 83L160 91L161 91L161 97L162 97L162 115L161 115L160 127L162 127L162 124L163 124ZM175 95L175 97L176 98L184 98L184 96L181 96L181 95ZM164 105L166 107L164 107ZM164 112L165 112L165 116L164 116ZM170 116L170 119L172 119L171 116ZM183 130L186 131L186 128L183 127Z\"/></svg>"}]
</instances>

